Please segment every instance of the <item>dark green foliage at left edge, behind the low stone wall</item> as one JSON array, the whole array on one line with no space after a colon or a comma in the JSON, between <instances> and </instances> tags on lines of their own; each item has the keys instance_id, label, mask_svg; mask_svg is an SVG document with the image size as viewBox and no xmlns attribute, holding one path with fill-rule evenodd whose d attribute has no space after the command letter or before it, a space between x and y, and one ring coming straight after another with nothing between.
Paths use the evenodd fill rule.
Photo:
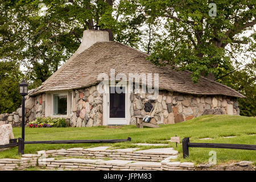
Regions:
<instances>
[{"instance_id":1,"label":"dark green foliage at left edge, behind the low stone wall","mask_svg":"<svg viewBox=\"0 0 256 182\"><path fill-rule=\"evenodd\" d=\"M15 61L0 61L0 113L12 113L21 104L19 82L22 73Z\"/></svg>"}]
</instances>

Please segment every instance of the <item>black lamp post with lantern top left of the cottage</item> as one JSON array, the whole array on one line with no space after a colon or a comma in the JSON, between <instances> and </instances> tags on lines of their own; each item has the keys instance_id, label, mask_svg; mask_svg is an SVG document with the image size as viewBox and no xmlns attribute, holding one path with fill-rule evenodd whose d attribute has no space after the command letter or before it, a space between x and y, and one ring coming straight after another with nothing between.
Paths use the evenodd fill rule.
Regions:
<instances>
[{"instance_id":1,"label":"black lamp post with lantern top left of the cottage","mask_svg":"<svg viewBox=\"0 0 256 182\"><path fill-rule=\"evenodd\" d=\"M23 80L19 84L19 94L22 96L22 139L25 140L25 96L28 84Z\"/></svg>"}]
</instances>

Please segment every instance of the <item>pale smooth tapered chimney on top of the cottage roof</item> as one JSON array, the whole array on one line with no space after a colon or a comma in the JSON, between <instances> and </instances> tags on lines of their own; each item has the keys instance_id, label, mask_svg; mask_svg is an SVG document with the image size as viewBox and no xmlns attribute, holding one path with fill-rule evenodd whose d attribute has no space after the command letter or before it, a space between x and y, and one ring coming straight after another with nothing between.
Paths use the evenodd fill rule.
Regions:
<instances>
[{"instance_id":1,"label":"pale smooth tapered chimney on top of the cottage roof","mask_svg":"<svg viewBox=\"0 0 256 182\"><path fill-rule=\"evenodd\" d=\"M109 42L109 32L103 30L85 30L82 35L82 43L76 53L81 53L96 42Z\"/></svg>"}]
</instances>

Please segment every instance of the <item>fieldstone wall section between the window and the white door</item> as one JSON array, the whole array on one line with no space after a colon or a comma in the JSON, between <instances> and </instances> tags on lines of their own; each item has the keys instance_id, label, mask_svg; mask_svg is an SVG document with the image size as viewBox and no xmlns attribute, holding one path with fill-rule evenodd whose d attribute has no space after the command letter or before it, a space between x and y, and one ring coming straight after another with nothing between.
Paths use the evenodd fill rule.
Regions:
<instances>
[{"instance_id":1,"label":"fieldstone wall section between the window and the white door","mask_svg":"<svg viewBox=\"0 0 256 182\"><path fill-rule=\"evenodd\" d=\"M72 127L92 127L102 125L103 94L100 94L96 86L85 89L73 90Z\"/></svg>"}]
</instances>

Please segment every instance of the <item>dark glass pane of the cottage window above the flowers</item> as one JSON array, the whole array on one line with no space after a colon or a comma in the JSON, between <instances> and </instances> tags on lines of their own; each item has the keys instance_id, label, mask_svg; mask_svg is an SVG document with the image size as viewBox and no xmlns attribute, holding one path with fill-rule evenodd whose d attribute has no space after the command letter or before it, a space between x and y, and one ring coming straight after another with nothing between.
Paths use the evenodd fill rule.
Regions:
<instances>
[{"instance_id":1,"label":"dark glass pane of the cottage window above the flowers","mask_svg":"<svg viewBox=\"0 0 256 182\"><path fill-rule=\"evenodd\" d=\"M67 115L67 101L68 96L61 96L53 94L53 114L54 115Z\"/></svg>"}]
</instances>

